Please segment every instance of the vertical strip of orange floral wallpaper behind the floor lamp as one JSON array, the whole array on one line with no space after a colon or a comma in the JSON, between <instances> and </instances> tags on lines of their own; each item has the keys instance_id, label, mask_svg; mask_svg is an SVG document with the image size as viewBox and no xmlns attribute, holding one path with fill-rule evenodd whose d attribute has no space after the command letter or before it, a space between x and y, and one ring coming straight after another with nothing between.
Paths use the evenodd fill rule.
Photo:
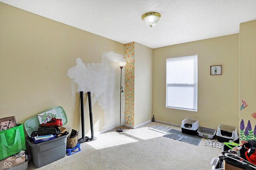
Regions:
<instances>
[{"instance_id":1,"label":"vertical strip of orange floral wallpaper behind the floor lamp","mask_svg":"<svg viewBox=\"0 0 256 170\"><path fill-rule=\"evenodd\" d=\"M124 44L124 60L126 61L124 78L125 123L134 126L134 42Z\"/></svg>"}]
</instances>

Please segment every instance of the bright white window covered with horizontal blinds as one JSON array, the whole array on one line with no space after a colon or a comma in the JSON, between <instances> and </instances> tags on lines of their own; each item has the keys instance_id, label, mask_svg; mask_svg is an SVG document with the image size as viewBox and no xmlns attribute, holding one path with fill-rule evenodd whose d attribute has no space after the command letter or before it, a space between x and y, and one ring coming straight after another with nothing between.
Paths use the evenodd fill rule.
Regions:
<instances>
[{"instance_id":1,"label":"bright white window covered with horizontal blinds","mask_svg":"<svg viewBox=\"0 0 256 170\"><path fill-rule=\"evenodd\" d=\"M166 107L197 111L197 55L166 60Z\"/></svg>"}]
</instances>

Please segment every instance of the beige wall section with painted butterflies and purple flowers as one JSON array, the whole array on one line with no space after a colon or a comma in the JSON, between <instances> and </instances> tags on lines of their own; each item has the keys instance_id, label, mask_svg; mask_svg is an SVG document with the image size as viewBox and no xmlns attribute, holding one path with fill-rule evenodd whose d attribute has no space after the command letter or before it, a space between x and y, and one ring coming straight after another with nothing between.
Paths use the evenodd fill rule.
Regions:
<instances>
[{"instance_id":1,"label":"beige wall section with painted butterflies and purple flowers","mask_svg":"<svg viewBox=\"0 0 256 170\"><path fill-rule=\"evenodd\" d=\"M239 109L240 121L244 120L245 127L250 120L251 127L248 128L249 135L244 135L245 128L240 130L240 141L256 139L253 134L256 120L251 114L256 113L256 20L240 23L239 33L239 65L240 65L240 86L239 86L239 108L242 100L248 105L246 108ZM256 117L255 117L256 118ZM247 133L247 134L248 134Z\"/></svg>"}]
</instances>

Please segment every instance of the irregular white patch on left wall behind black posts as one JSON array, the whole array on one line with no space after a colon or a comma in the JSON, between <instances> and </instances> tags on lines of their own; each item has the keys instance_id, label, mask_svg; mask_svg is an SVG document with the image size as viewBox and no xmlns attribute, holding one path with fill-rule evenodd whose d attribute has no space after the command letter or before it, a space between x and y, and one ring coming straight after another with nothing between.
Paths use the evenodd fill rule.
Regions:
<instances>
[{"instance_id":1,"label":"irregular white patch on left wall behind black posts","mask_svg":"<svg viewBox=\"0 0 256 170\"><path fill-rule=\"evenodd\" d=\"M78 85L76 92L92 93L92 106L98 101L104 109L105 128L117 123L119 118L118 84L116 83L117 62L124 61L123 55L113 51L102 53L101 63L83 63L81 58L76 59L76 66L68 69L68 76ZM75 106L75 84L72 83L72 102ZM123 99L122 99L123 102ZM123 110L123 109L122 109Z\"/></svg>"}]
</instances>

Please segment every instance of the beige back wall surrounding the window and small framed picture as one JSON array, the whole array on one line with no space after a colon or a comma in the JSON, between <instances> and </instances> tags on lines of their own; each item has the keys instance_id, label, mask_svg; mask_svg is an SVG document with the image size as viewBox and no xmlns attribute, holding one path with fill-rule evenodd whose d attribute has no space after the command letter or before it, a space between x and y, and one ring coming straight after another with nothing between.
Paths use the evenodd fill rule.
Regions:
<instances>
[{"instance_id":1,"label":"beige back wall surrounding the window and small framed picture","mask_svg":"<svg viewBox=\"0 0 256 170\"><path fill-rule=\"evenodd\" d=\"M172 45L153 51L153 114L159 121L181 125L198 119L202 127L238 127L238 34ZM198 54L198 111L166 108L166 59ZM210 65L222 64L222 75L210 76Z\"/></svg>"}]
</instances>

